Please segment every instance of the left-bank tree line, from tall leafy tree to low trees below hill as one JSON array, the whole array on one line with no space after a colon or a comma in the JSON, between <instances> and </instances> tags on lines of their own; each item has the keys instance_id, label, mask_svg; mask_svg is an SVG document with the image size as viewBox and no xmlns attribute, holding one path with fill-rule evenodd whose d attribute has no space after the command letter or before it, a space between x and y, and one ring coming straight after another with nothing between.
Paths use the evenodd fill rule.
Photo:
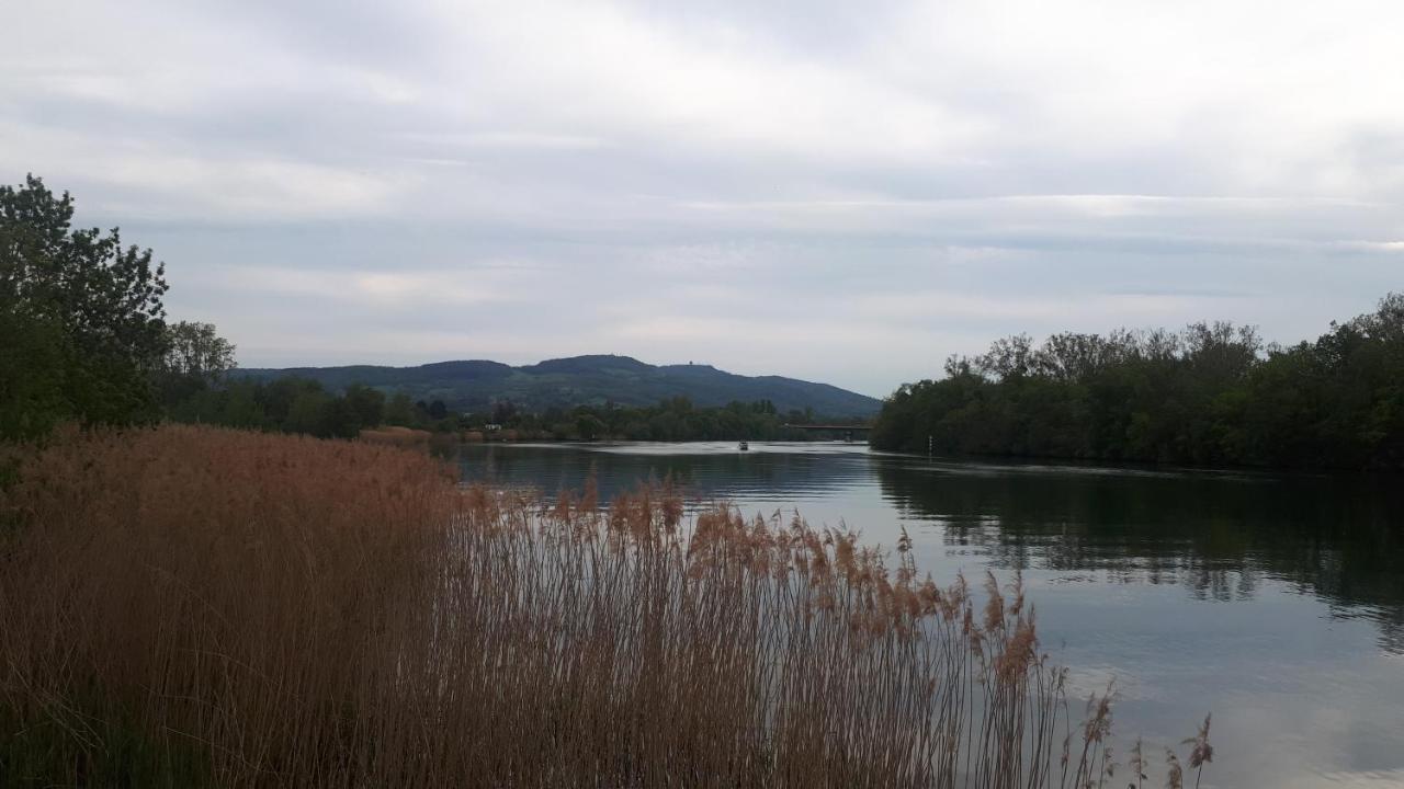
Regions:
<instances>
[{"instance_id":1,"label":"left-bank tree line, from tall leafy tree to low trees below hill","mask_svg":"<svg viewBox=\"0 0 1404 789\"><path fill-rule=\"evenodd\" d=\"M131 425L160 420L352 438L402 425L437 432L501 428L555 439L806 438L768 400L696 407L556 407L510 402L453 413L442 400L352 385L341 392L299 378L230 375L234 345L215 326L167 321L166 267L124 246L119 229L73 226L74 199L41 178L0 185L0 441L35 439L59 423Z\"/></svg>"}]
</instances>

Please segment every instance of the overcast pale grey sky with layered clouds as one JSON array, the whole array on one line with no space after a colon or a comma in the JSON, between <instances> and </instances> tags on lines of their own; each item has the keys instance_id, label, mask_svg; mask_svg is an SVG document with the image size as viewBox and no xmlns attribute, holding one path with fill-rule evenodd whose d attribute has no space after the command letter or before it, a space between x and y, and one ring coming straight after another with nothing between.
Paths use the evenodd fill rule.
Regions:
<instances>
[{"instance_id":1,"label":"overcast pale grey sky with layered clouds","mask_svg":"<svg viewBox=\"0 0 1404 789\"><path fill-rule=\"evenodd\" d=\"M244 366L614 352L886 394L1404 289L1397 0L0 0L0 177Z\"/></svg>"}]
</instances>

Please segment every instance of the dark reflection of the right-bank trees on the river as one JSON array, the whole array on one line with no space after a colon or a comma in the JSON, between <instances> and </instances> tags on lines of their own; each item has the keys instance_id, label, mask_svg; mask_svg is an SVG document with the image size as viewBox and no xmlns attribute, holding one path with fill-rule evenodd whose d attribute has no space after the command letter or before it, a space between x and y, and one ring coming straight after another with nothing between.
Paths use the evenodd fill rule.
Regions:
<instances>
[{"instance_id":1,"label":"dark reflection of the right-bank trees on the river","mask_svg":"<svg viewBox=\"0 0 1404 789\"><path fill-rule=\"evenodd\" d=\"M883 496L938 522L949 546L1004 569L1181 584L1252 597L1264 577L1367 616L1404 651L1404 480L1370 476L1155 475L879 466Z\"/></svg>"}]
</instances>

